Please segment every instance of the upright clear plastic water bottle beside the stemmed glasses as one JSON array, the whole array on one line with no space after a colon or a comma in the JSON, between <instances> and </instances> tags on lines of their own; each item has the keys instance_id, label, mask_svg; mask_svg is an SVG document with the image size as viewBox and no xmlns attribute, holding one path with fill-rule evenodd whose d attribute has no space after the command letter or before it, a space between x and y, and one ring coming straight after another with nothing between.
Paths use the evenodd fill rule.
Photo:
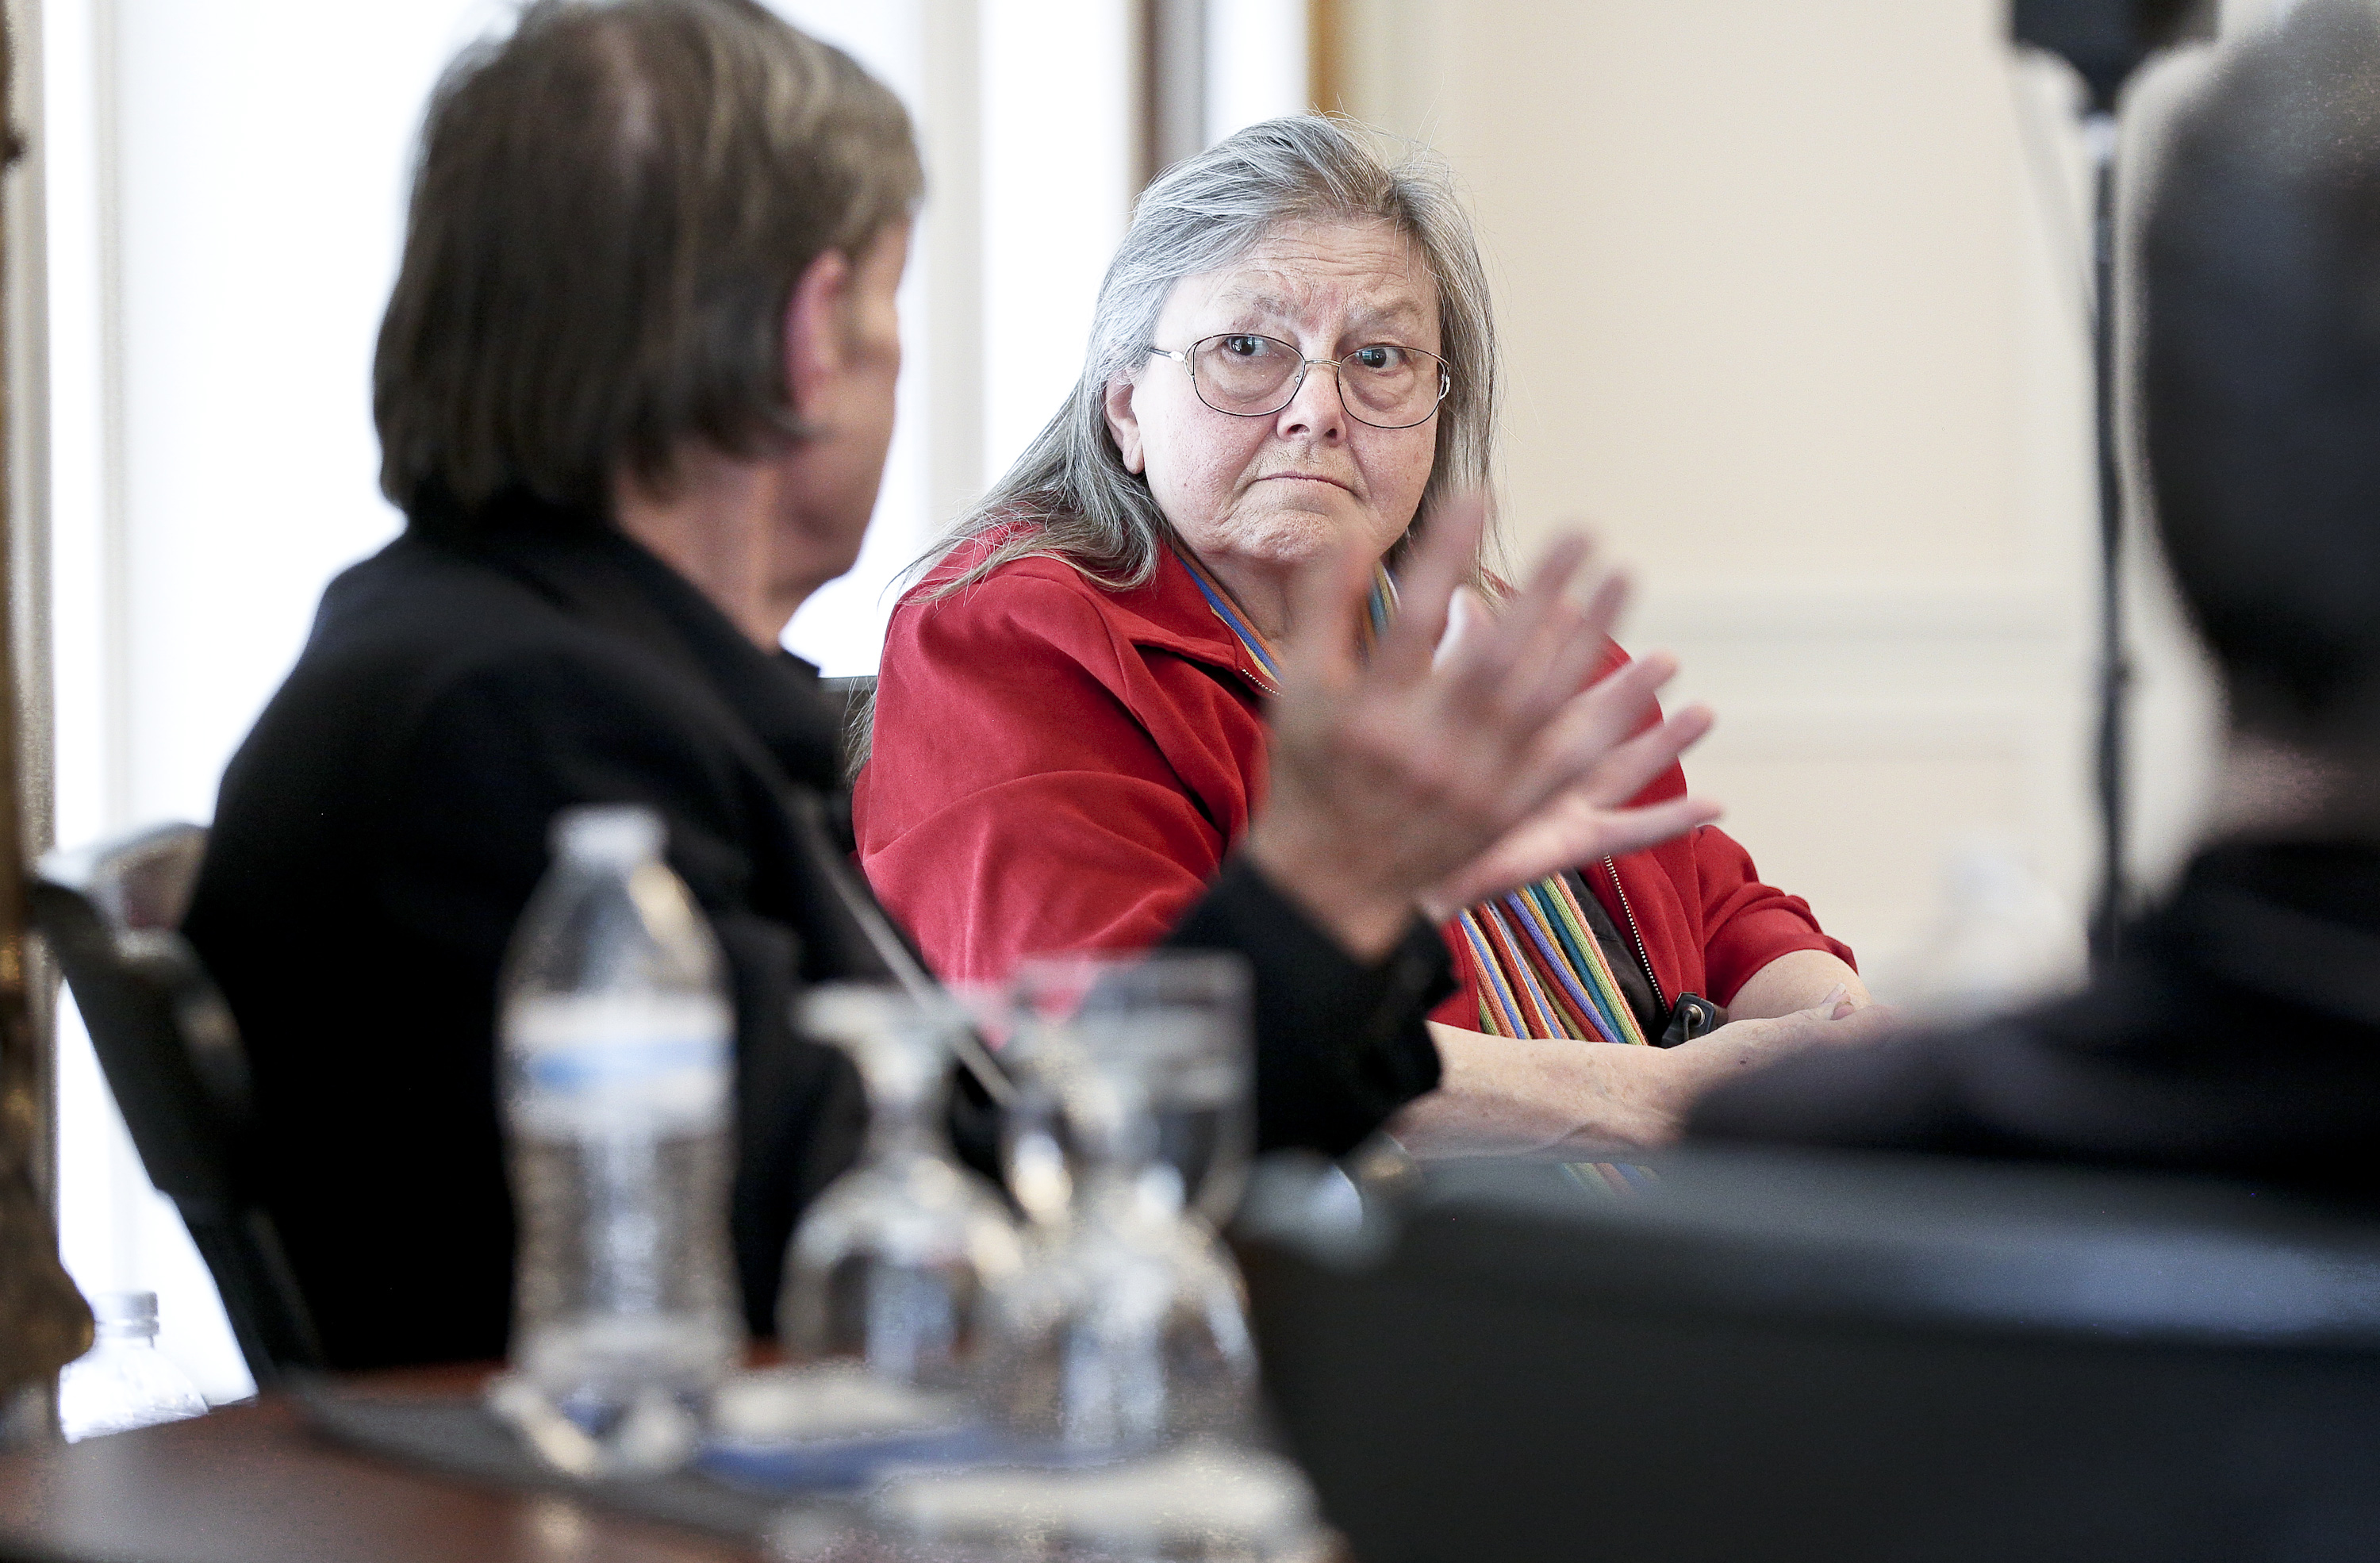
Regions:
<instances>
[{"instance_id":1,"label":"upright clear plastic water bottle beside the stemmed glasses","mask_svg":"<svg viewBox=\"0 0 2380 1563\"><path fill-rule=\"evenodd\" d=\"M671 1470L743 1354L719 944L650 809L571 809L505 961L519 1254L497 1413L571 1475Z\"/></svg>"}]
</instances>

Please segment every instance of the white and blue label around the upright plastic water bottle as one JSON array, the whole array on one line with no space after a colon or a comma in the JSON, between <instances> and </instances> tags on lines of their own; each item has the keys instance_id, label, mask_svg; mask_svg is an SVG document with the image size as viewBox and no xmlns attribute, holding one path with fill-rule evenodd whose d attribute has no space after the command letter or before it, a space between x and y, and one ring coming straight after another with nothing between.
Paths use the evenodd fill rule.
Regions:
<instances>
[{"instance_id":1,"label":"white and blue label around the upright plastic water bottle","mask_svg":"<svg viewBox=\"0 0 2380 1563\"><path fill-rule=\"evenodd\" d=\"M704 997L533 999L505 1016L512 1123L528 1135L681 1135L728 1113L726 1004Z\"/></svg>"}]
</instances>

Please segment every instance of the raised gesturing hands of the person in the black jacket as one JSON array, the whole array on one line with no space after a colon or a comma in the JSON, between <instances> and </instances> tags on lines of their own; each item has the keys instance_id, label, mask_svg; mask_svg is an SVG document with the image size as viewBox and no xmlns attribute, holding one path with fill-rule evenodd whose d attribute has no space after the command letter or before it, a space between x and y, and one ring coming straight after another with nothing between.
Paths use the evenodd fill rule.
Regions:
<instances>
[{"instance_id":1,"label":"raised gesturing hands of the person in the black jacket","mask_svg":"<svg viewBox=\"0 0 2380 1563\"><path fill-rule=\"evenodd\" d=\"M1397 619L1359 657L1373 559L1316 566L1280 699L1271 711L1271 797L1247 852L1364 959L1385 954L1416 909L1440 916L1480 895L1606 852L1637 852L1716 818L1699 799L1621 806L1709 728L1685 711L1635 737L1673 671L1652 657L1580 692L1626 588L1604 578L1580 611L1564 597L1585 545L1564 540L1523 590L1438 654L1485 509L1449 504L1399 583Z\"/></svg>"}]
</instances>

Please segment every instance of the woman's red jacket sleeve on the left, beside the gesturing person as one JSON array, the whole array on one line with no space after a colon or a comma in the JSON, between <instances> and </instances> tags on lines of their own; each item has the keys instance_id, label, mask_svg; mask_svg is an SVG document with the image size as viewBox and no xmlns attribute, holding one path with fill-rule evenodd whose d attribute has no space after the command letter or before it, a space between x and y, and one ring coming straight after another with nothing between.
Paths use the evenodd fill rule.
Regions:
<instances>
[{"instance_id":1,"label":"woman's red jacket sleeve on the left, beside the gesturing person","mask_svg":"<svg viewBox=\"0 0 2380 1563\"><path fill-rule=\"evenodd\" d=\"M1085 590L1009 569L892 616L859 859L945 978L1157 944L1245 826L1216 733L1254 714L1123 640Z\"/></svg>"}]
</instances>

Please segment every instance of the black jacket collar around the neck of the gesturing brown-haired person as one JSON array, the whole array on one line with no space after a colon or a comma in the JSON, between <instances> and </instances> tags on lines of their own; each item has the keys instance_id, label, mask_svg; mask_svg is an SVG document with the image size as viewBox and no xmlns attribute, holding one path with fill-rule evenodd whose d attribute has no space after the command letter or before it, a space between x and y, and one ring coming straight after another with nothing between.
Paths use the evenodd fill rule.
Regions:
<instances>
[{"instance_id":1,"label":"black jacket collar around the neck of the gesturing brown-haired person","mask_svg":"<svg viewBox=\"0 0 2380 1563\"><path fill-rule=\"evenodd\" d=\"M843 785L840 721L819 688L819 668L752 645L685 576L616 526L526 492L500 495L466 523L455 521L431 511L412 526L716 692L788 778L826 792Z\"/></svg>"}]
</instances>

